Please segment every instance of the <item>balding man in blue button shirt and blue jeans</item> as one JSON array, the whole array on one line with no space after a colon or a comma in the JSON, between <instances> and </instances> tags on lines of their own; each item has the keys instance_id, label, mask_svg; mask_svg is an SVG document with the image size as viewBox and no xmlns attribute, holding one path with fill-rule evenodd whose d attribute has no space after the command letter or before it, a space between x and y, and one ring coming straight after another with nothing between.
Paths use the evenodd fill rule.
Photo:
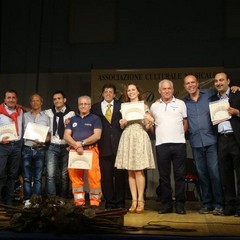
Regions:
<instances>
[{"instance_id":1,"label":"balding man in blue button shirt and blue jeans","mask_svg":"<svg viewBox=\"0 0 240 240\"><path fill-rule=\"evenodd\" d=\"M218 214L222 211L223 196L218 166L217 131L213 128L209 102L214 89L199 89L194 75L184 78L188 96L184 98L189 121L190 144L199 175L203 207L199 213Z\"/></svg>"}]
</instances>

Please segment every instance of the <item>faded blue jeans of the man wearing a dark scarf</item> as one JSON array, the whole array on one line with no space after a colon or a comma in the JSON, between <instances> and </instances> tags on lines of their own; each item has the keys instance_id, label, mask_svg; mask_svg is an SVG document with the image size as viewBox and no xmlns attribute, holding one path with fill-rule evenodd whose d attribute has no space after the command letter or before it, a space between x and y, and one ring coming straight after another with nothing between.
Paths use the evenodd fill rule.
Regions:
<instances>
[{"instance_id":1,"label":"faded blue jeans of the man wearing a dark scarf","mask_svg":"<svg viewBox=\"0 0 240 240\"><path fill-rule=\"evenodd\" d=\"M47 195L60 195L63 198L68 196L69 176L68 176L68 151L67 145L50 144L46 156L47 170ZM59 181L59 180L60 181ZM56 185L59 185L59 193Z\"/></svg>"}]
</instances>

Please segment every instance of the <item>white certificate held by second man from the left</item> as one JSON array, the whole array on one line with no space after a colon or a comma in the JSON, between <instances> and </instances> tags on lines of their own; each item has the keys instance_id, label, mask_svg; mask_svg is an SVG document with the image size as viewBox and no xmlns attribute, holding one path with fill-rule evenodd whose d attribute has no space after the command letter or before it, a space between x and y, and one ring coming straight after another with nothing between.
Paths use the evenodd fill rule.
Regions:
<instances>
[{"instance_id":1,"label":"white certificate held by second man from the left","mask_svg":"<svg viewBox=\"0 0 240 240\"><path fill-rule=\"evenodd\" d=\"M48 126L29 122L27 124L23 138L33 141L38 140L39 142L45 142L48 130Z\"/></svg>"}]
</instances>

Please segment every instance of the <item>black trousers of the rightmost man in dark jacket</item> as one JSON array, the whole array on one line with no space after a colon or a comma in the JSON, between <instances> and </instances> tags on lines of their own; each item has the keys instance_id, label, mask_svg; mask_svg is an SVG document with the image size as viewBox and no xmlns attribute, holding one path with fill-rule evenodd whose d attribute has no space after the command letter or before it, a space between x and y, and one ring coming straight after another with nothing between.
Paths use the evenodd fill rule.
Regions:
<instances>
[{"instance_id":1,"label":"black trousers of the rightmost man in dark jacket","mask_svg":"<svg viewBox=\"0 0 240 240\"><path fill-rule=\"evenodd\" d=\"M226 206L236 206L240 209L240 146L234 135L219 134L218 158L220 177ZM235 185L235 176L237 186ZM236 193L237 189L237 193Z\"/></svg>"}]
</instances>

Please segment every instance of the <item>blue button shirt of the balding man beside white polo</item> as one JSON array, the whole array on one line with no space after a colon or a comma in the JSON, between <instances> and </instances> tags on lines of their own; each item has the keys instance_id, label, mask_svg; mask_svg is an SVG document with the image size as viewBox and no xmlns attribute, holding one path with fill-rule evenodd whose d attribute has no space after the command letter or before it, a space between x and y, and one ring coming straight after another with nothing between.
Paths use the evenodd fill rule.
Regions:
<instances>
[{"instance_id":1,"label":"blue button shirt of the balding man beside white polo","mask_svg":"<svg viewBox=\"0 0 240 240\"><path fill-rule=\"evenodd\" d=\"M217 143L217 131L212 125L209 112L209 102L215 94L215 89L203 89L200 90L197 101L189 96L184 98L192 147L206 147Z\"/></svg>"}]
</instances>

